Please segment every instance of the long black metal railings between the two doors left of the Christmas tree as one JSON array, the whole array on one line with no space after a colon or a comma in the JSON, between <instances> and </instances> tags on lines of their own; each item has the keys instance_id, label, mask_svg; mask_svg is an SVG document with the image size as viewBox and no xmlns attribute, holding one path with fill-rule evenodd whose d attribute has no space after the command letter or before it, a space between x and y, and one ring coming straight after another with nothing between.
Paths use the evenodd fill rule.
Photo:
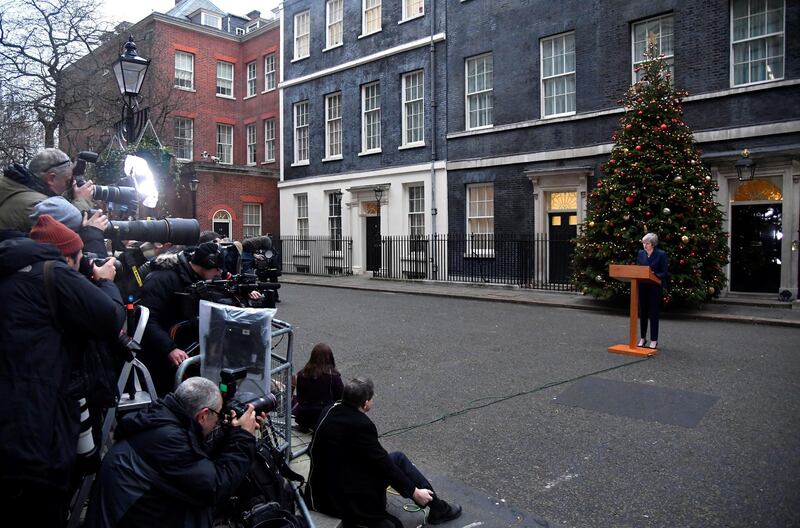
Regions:
<instances>
[{"instance_id":1,"label":"long black metal railings between the two doors left of the Christmas tree","mask_svg":"<svg viewBox=\"0 0 800 528\"><path fill-rule=\"evenodd\" d=\"M513 284L571 291L574 243L546 235L381 237L376 277Z\"/></svg>"}]
</instances>

